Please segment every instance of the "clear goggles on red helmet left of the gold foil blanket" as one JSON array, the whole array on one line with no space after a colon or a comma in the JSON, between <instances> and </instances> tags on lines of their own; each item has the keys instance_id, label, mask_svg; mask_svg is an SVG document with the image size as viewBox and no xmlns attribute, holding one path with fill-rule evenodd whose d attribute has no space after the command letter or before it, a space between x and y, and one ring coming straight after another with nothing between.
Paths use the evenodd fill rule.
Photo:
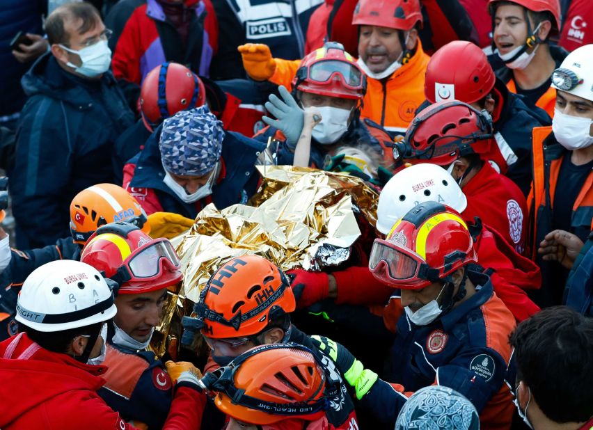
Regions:
<instances>
[{"instance_id":1,"label":"clear goggles on red helmet left of the gold foil blanket","mask_svg":"<svg viewBox=\"0 0 593 430\"><path fill-rule=\"evenodd\" d=\"M164 238L155 239L147 246L134 250L111 279L116 280L120 285L134 280L156 279L163 272L164 264L173 270L179 270L181 267L171 242Z\"/></svg>"}]
</instances>

